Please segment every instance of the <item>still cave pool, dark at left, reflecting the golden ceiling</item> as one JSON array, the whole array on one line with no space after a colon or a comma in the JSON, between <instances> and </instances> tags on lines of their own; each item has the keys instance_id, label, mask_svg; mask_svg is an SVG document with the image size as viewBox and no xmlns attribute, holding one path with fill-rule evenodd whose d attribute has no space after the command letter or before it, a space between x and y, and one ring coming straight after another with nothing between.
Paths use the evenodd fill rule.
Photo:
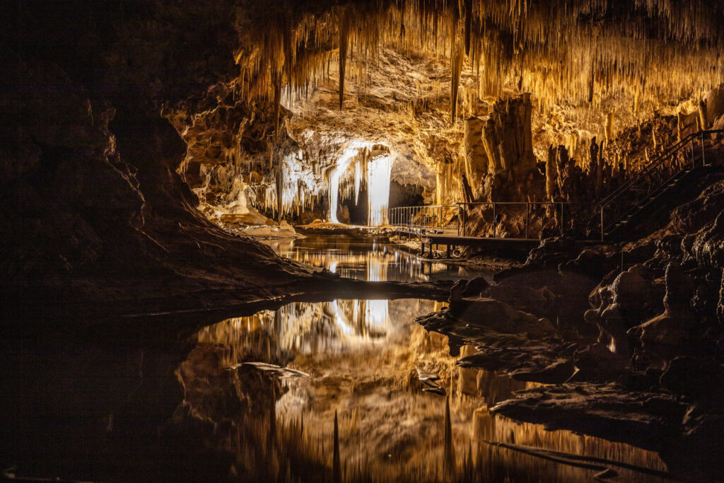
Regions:
<instances>
[{"instance_id":1,"label":"still cave pool, dark at left, reflecting the golden ceiling","mask_svg":"<svg viewBox=\"0 0 724 483\"><path fill-rule=\"evenodd\" d=\"M361 280L490 276L352 238L275 249ZM665 469L654 453L493 416L489 407L528 385L456 366L447 338L414 322L440 308L292 303L221 322L151 318L0 338L0 463L20 476L83 481L332 481L336 413L343 481L578 482L597 473L482 440ZM304 375L236 367L248 362ZM418 371L439 377L439 388L424 391ZM619 472L619 481L652 481Z\"/></svg>"}]
</instances>

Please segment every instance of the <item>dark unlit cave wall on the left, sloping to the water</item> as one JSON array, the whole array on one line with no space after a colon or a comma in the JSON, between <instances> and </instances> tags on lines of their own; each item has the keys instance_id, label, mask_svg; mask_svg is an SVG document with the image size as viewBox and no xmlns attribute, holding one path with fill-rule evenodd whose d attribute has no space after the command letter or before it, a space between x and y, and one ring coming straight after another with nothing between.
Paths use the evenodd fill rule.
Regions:
<instances>
[{"instance_id":1,"label":"dark unlit cave wall on the left, sloping to the water","mask_svg":"<svg viewBox=\"0 0 724 483\"><path fill-rule=\"evenodd\" d=\"M180 125L217 103L210 85L237 74L232 5L11 1L4 11L0 270L16 295L4 310L203 290L243 301L308 274L208 222L176 173L186 145L162 113Z\"/></svg>"}]
</instances>

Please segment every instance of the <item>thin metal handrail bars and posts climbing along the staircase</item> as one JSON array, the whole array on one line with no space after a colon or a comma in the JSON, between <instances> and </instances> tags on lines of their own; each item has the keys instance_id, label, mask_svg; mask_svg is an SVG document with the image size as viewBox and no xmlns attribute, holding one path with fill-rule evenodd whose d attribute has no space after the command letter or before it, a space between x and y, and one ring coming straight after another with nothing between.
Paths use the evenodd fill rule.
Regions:
<instances>
[{"instance_id":1,"label":"thin metal handrail bars and posts climbing along the staircase","mask_svg":"<svg viewBox=\"0 0 724 483\"><path fill-rule=\"evenodd\" d=\"M614 219L612 222L609 222L606 224L605 222L605 215L604 211L607 209L608 206L614 203L618 198L623 196L624 194L631 193L633 186L637 184L641 184L642 180L645 180L652 176L653 173L656 173L660 176L660 173L656 171L658 168L662 167L662 164L664 164L664 161L667 159L670 159L675 154L678 154L683 149L687 148L689 143L691 144L691 168L693 169L695 167L695 156L694 156L694 139L701 138L702 143L702 166L707 166L706 164L706 154L704 151L704 136L705 135L711 135L711 134L724 134L724 130L722 129L716 129L716 130L705 130L705 131L699 131L697 133L691 133L686 138L683 138L682 140L678 141L678 143L675 143L673 146L670 146L665 152L657 156L656 159L651 161L649 164L646 165L641 171L636 173L635 176L631 177L630 180L623 183L617 190L615 190L613 193L610 193L610 195L606 196L599 202L599 209L601 214L601 241L605 239L605 234L607 228L615 227L615 225L620 222L620 220L624 219L625 217L630 216L633 213L636 213L636 211L639 210L639 201L637 200L635 205L631 207L631 209L628 209L625 213L618 216L616 219ZM673 175L668 177L665 180L661 180L661 177L659 177L659 184L655 185L653 188L651 185L649 185L649 188L647 189L647 192L644 193L644 197L651 196L652 193L656 193L657 191L661 190L662 187L665 185L670 184L670 182L673 182L677 177L679 177L683 173L684 169L678 169L678 171L674 172Z\"/></svg>"}]
</instances>

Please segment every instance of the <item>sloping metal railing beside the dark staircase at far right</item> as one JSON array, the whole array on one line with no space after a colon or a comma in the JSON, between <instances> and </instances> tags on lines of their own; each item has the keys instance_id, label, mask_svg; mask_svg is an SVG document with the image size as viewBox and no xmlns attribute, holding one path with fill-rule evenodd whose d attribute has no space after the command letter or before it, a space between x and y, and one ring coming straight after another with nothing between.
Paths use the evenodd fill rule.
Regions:
<instances>
[{"instance_id":1,"label":"sloping metal railing beside the dark staircase at far right","mask_svg":"<svg viewBox=\"0 0 724 483\"><path fill-rule=\"evenodd\" d=\"M705 136L712 134L724 134L724 130L699 131L686 136L650 161L646 167L620 185L613 193L603 198L599 202L601 241L623 220L630 219L633 214L647 206L653 198L673 185L672 183L677 182L683 175L696 167L694 140L697 138L702 148L701 166L707 166L706 150L704 149ZM690 162L679 166L674 162L667 163L667 161L673 161L675 156L684 150L691 150L691 156L687 156L687 161L690 160Z\"/></svg>"}]
</instances>

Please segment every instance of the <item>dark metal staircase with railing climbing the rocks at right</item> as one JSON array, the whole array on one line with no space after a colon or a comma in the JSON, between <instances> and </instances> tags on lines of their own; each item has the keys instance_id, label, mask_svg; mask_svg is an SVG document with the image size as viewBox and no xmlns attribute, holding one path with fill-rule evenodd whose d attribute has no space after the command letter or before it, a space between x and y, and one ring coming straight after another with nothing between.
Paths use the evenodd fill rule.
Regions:
<instances>
[{"instance_id":1,"label":"dark metal staircase with railing climbing the rocks at right","mask_svg":"<svg viewBox=\"0 0 724 483\"><path fill-rule=\"evenodd\" d=\"M686 136L603 198L598 206L601 241L623 238L642 216L673 198L671 195L685 180L707 172L705 145L712 134L724 134L724 130L699 131ZM698 163L694 149L696 140L701 146ZM685 158L675 162L682 152Z\"/></svg>"}]
</instances>

